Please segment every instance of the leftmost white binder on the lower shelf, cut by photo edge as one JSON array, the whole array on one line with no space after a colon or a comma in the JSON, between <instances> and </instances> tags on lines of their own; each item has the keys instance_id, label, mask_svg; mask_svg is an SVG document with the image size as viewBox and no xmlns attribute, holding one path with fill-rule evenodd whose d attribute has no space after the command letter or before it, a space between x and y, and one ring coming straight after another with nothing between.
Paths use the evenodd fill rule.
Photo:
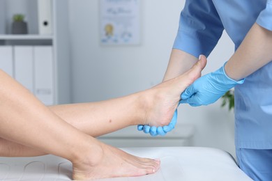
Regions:
<instances>
[{"instance_id":1,"label":"leftmost white binder on the lower shelf, cut by photo edge","mask_svg":"<svg viewBox=\"0 0 272 181\"><path fill-rule=\"evenodd\" d=\"M0 69L13 77L13 47L0 46Z\"/></svg>"}]
</instances>

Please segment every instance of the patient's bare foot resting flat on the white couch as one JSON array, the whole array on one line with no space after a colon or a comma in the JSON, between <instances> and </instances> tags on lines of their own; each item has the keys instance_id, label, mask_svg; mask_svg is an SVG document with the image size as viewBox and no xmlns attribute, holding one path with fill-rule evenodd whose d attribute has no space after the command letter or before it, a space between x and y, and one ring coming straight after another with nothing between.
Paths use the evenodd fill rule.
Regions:
<instances>
[{"instance_id":1,"label":"patient's bare foot resting flat on the white couch","mask_svg":"<svg viewBox=\"0 0 272 181\"><path fill-rule=\"evenodd\" d=\"M73 163L73 179L133 177L155 173L160 161L129 155L118 148L98 142L80 162Z\"/></svg>"}]
</instances>

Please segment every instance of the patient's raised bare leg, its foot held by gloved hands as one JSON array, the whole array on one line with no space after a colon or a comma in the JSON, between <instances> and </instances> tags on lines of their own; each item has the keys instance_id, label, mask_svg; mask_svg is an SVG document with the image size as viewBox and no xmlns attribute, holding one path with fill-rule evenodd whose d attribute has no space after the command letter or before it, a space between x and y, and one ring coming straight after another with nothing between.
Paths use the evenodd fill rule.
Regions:
<instances>
[{"instance_id":1,"label":"patient's raised bare leg, its foot held by gloved hands","mask_svg":"<svg viewBox=\"0 0 272 181\"><path fill-rule=\"evenodd\" d=\"M130 125L167 125L177 107L181 92L200 76L201 70L206 65L206 58L204 56L202 58L202 61L195 64L194 68L185 74L165 81L147 91L102 102L63 104L49 108L73 127L93 137ZM5 148L3 145L9 148L6 153L3 153L3 148ZM2 148L1 155L45 154L3 139L0 139L0 148ZM9 153L12 150L14 153Z\"/></svg>"}]
</instances>

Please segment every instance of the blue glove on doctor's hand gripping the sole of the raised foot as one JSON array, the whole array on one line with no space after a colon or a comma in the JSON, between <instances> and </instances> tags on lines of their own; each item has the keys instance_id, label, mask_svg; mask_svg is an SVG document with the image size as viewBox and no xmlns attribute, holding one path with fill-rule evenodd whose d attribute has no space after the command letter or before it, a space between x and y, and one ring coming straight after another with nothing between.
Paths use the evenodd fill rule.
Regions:
<instances>
[{"instance_id":1,"label":"blue glove on doctor's hand gripping the sole of the raised foot","mask_svg":"<svg viewBox=\"0 0 272 181\"><path fill-rule=\"evenodd\" d=\"M181 94L180 103L188 103L192 107L208 105L216 102L236 84L243 84L244 79L235 81L225 74L225 64L216 72L211 72L197 79Z\"/></svg>"}]
</instances>

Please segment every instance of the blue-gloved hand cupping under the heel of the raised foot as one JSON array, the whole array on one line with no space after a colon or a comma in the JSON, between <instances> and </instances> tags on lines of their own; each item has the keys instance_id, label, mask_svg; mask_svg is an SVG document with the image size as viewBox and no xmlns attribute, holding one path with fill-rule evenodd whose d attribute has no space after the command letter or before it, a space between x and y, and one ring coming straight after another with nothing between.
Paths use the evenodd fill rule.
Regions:
<instances>
[{"instance_id":1,"label":"blue-gloved hand cupping under the heel of the raised foot","mask_svg":"<svg viewBox=\"0 0 272 181\"><path fill-rule=\"evenodd\" d=\"M172 131L172 129L174 129L175 125L176 125L176 119L178 117L178 111L176 109L176 111L174 112L174 116L171 120L171 122L169 123L169 125L163 126L163 127L155 127L152 126L150 127L149 125L138 125L138 130L139 131L144 131L144 133L146 134L150 134L151 136L164 136L165 134L167 134L167 132Z\"/></svg>"}]
</instances>

